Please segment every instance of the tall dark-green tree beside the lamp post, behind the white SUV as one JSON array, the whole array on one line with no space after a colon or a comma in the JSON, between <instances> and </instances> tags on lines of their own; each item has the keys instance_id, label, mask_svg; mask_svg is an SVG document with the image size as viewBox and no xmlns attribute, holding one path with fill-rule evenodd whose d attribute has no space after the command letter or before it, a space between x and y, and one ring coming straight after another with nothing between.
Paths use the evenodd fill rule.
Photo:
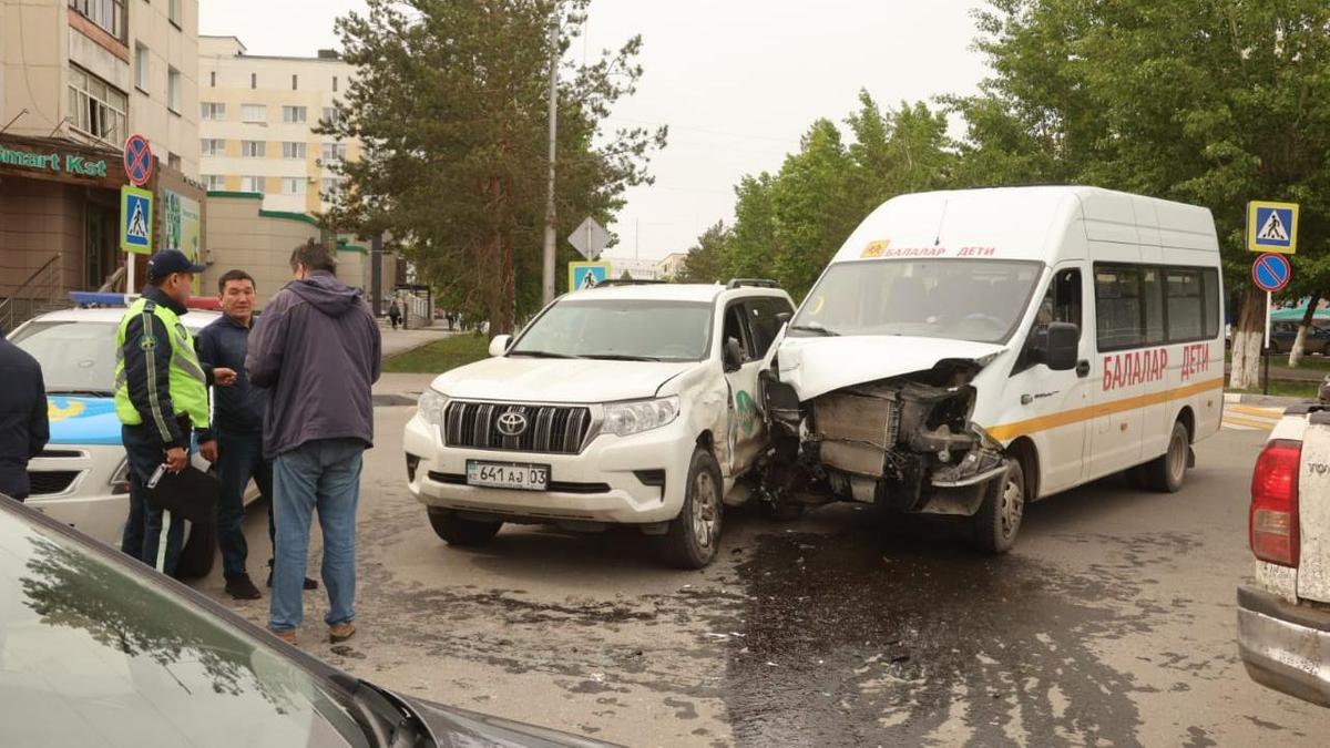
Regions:
<instances>
[{"instance_id":1,"label":"tall dark-green tree beside the lamp post, behind the white SUV","mask_svg":"<svg viewBox=\"0 0 1330 748\"><path fill-rule=\"evenodd\" d=\"M342 166L347 188L329 222L390 233L442 302L488 318L493 333L540 305L548 64L581 33L588 3L367 0L336 23L358 73L318 132L359 138L364 158ZM551 23L560 23L557 49ZM640 49L634 37L561 65L560 236L585 216L609 222L624 189L650 181L648 154L665 130L601 130L642 73Z\"/></svg>"}]
</instances>

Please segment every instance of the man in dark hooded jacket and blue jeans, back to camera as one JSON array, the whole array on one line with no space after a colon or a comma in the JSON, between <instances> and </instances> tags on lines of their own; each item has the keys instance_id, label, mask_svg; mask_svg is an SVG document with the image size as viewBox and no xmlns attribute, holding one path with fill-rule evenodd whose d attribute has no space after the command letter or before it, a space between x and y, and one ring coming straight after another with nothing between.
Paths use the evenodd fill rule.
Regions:
<instances>
[{"instance_id":1,"label":"man in dark hooded jacket and blue jeans, back to camera","mask_svg":"<svg viewBox=\"0 0 1330 748\"><path fill-rule=\"evenodd\" d=\"M273 459L277 559L269 627L286 642L305 616L301 592L318 510L329 639L355 634L355 511L360 458L374 446L370 387L382 339L360 291L335 277L332 253L313 240L291 253L295 280L263 307L245 369L269 389L263 457Z\"/></svg>"}]
</instances>

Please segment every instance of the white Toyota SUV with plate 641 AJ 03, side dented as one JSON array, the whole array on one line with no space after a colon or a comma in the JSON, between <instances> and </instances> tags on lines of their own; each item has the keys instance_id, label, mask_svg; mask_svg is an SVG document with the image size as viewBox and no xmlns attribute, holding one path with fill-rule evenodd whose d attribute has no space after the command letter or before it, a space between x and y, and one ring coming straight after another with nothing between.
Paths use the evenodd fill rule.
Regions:
<instances>
[{"instance_id":1,"label":"white Toyota SUV with plate 641 AJ 03, side dented","mask_svg":"<svg viewBox=\"0 0 1330 748\"><path fill-rule=\"evenodd\" d=\"M564 295L422 395L411 494L452 544L504 522L629 524L661 536L668 563L704 567L724 504L761 494L758 370L793 310L769 281Z\"/></svg>"}]
</instances>

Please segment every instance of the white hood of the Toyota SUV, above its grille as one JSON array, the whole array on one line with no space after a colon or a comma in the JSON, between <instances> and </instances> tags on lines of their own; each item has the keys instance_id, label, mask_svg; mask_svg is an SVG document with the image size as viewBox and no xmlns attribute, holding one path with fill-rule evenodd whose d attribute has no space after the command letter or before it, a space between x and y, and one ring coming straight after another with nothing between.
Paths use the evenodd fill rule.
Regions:
<instances>
[{"instance_id":1,"label":"white hood of the Toyota SUV, above its grille","mask_svg":"<svg viewBox=\"0 0 1330 748\"><path fill-rule=\"evenodd\" d=\"M652 398L697 362L487 358L440 374L434 389L460 399L592 403Z\"/></svg>"}]
</instances>

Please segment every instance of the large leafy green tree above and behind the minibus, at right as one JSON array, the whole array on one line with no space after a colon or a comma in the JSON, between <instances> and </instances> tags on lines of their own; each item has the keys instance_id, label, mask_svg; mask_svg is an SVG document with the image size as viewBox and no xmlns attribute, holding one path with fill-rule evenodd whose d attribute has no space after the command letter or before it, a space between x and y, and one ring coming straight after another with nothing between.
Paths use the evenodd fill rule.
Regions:
<instances>
[{"instance_id":1,"label":"large leafy green tree above and behind the minibus, at right","mask_svg":"<svg viewBox=\"0 0 1330 748\"><path fill-rule=\"evenodd\" d=\"M1250 387L1264 294L1242 241L1253 198L1302 204L1295 274L1326 287L1330 7L1321 0L991 0L994 76L952 100L971 184L1080 182L1205 205L1238 291L1230 385Z\"/></svg>"}]
</instances>

